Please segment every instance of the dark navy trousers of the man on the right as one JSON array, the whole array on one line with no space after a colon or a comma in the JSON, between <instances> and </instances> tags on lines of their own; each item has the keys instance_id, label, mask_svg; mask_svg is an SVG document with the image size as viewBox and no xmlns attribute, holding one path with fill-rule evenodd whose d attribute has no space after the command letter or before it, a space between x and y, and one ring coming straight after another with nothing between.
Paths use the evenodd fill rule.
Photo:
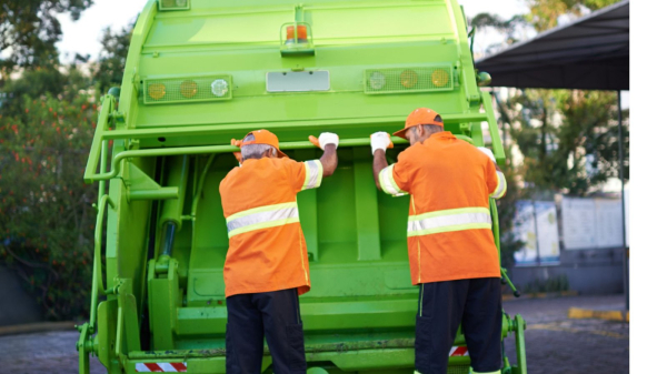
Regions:
<instances>
[{"instance_id":1,"label":"dark navy trousers of the man on the right","mask_svg":"<svg viewBox=\"0 0 667 374\"><path fill-rule=\"evenodd\" d=\"M476 373L502 366L499 277L422 283L415 332L415 368L445 374L459 324Z\"/></svg>"}]
</instances>

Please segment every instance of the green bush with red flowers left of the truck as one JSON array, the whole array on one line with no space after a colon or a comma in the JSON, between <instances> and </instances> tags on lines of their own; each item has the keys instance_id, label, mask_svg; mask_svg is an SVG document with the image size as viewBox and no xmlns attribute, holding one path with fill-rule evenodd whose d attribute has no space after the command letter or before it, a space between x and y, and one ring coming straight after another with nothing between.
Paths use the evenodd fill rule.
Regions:
<instances>
[{"instance_id":1,"label":"green bush with red flowers left of the truck","mask_svg":"<svg viewBox=\"0 0 667 374\"><path fill-rule=\"evenodd\" d=\"M18 89L36 73L10 82L23 95L0 112L0 264L26 281L47 319L74 319L90 302L97 194L81 174L98 98L76 69L58 77L58 95Z\"/></svg>"}]
</instances>

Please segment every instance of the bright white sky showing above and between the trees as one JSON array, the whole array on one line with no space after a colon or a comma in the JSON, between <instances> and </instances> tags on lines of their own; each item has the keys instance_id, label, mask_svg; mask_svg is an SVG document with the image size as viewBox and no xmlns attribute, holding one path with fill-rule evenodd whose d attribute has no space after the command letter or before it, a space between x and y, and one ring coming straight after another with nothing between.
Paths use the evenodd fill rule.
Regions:
<instances>
[{"instance_id":1,"label":"bright white sky showing above and between the trees","mask_svg":"<svg viewBox=\"0 0 667 374\"><path fill-rule=\"evenodd\" d=\"M72 61L76 53L90 54L97 59L101 50L102 30L111 27L119 31L132 21L143 9L145 0L94 0L94 4L83 11L78 21L67 14L58 17L62 27L62 40L57 44L63 62ZM495 13L507 19L526 13L525 0L459 0L467 17L481 12ZM500 36L484 34L479 43L499 42Z\"/></svg>"}]
</instances>

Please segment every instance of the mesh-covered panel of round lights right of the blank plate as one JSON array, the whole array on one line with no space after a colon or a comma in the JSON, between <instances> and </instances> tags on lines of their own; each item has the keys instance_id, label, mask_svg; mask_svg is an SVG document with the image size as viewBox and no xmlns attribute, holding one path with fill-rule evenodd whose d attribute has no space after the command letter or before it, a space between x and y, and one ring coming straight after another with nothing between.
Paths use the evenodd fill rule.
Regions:
<instances>
[{"instance_id":1,"label":"mesh-covered panel of round lights right of the blank plate","mask_svg":"<svg viewBox=\"0 0 667 374\"><path fill-rule=\"evenodd\" d=\"M451 65L365 70L364 92L376 94L451 91Z\"/></svg>"}]
</instances>

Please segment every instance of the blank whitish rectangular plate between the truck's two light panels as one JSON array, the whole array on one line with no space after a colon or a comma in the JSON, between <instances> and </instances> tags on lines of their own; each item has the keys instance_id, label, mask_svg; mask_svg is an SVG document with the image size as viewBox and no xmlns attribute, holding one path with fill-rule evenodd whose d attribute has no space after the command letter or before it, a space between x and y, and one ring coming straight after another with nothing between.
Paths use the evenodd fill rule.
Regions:
<instances>
[{"instance_id":1,"label":"blank whitish rectangular plate between the truck's two light panels","mask_svg":"<svg viewBox=\"0 0 667 374\"><path fill-rule=\"evenodd\" d=\"M268 92L328 91L329 88L329 72L326 70L267 73Z\"/></svg>"}]
</instances>

